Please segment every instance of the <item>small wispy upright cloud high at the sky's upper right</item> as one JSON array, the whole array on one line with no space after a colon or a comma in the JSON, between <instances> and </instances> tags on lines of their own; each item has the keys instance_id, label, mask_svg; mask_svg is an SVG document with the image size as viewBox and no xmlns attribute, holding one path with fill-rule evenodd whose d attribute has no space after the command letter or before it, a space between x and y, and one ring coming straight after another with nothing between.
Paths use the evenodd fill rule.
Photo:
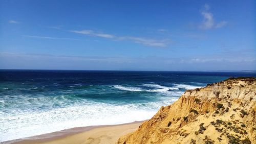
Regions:
<instances>
[{"instance_id":1,"label":"small wispy upright cloud high at the sky's upper right","mask_svg":"<svg viewBox=\"0 0 256 144\"><path fill-rule=\"evenodd\" d=\"M218 23L214 20L214 15L209 12L210 6L205 4L204 9L201 12L201 15L203 16L203 21L200 24L199 28L203 30L213 29L213 28L222 28L227 25L227 21L223 20Z\"/></svg>"}]
</instances>

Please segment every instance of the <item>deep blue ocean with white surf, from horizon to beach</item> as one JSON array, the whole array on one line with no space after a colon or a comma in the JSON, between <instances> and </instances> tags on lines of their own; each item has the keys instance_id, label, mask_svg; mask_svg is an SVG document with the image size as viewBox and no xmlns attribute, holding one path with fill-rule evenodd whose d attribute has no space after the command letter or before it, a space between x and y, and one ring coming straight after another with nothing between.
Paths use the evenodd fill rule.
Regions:
<instances>
[{"instance_id":1,"label":"deep blue ocean with white surf, from horizon to beach","mask_svg":"<svg viewBox=\"0 0 256 144\"><path fill-rule=\"evenodd\" d=\"M0 140L151 118L186 89L256 73L0 70Z\"/></svg>"}]
</instances>

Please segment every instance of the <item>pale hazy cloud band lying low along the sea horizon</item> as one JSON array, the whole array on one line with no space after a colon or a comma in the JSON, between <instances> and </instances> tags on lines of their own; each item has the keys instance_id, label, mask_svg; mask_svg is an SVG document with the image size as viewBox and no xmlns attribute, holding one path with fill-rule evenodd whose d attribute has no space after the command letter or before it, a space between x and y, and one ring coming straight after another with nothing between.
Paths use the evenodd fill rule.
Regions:
<instances>
[{"instance_id":1,"label":"pale hazy cloud band lying low along the sea horizon","mask_svg":"<svg viewBox=\"0 0 256 144\"><path fill-rule=\"evenodd\" d=\"M95 57L0 52L2 69L255 70L255 61L254 57L244 56Z\"/></svg>"}]
</instances>

